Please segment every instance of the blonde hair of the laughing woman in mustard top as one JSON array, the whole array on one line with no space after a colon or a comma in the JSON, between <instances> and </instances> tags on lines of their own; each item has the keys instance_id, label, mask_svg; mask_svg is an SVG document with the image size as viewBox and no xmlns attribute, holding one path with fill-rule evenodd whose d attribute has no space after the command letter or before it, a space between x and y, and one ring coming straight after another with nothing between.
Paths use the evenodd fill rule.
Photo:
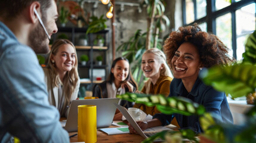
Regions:
<instances>
[{"instance_id":1,"label":"blonde hair of the laughing woman in mustard top","mask_svg":"<svg viewBox=\"0 0 256 143\"><path fill-rule=\"evenodd\" d=\"M147 49L147 51L145 51L143 53L144 54L154 54L156 55L157 59L161 64L164 64L164 68L160 71L160 75L161 76L169 76L169 77L172 77L172 73L171 73L171 70L169 69L169 66L168 64L166 63L166 57L165 57L165 54L164 52L162 52L160 49L158 48L151 48L151 49ZM146 86L146 94L149 94L149 91L150 91L150 84L151 84L151 81L150 79L147 80L145 82L145 86Z\"/></svg>"}]
</instances>

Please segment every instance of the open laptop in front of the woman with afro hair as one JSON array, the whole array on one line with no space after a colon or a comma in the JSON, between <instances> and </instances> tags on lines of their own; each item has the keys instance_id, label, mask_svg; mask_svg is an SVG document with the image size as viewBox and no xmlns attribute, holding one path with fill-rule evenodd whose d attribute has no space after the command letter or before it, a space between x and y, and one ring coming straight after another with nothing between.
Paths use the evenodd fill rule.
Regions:
<instances>
[{"instance_id":1,"label":"open laptop in front of the woman with afro hair","mask_svg":"<svg viewBox=\"0 0 256 143\"><path fill-rule=\"evenodd\" d=\"M121 105L115 104L119 111L125 116L125 118L128 120L128 122L131 124L131 126L137 131L138 134L140 134L143 138L149 138L150 136L155 135L158 132L161 132L162 130L159 129L166 129L171 130L168 128L164 128L162 126L153 128L152 130L148 130L149 132L143 132L140 129L140 126L135 122L135 120L132 118L132 116L129 114L126 108L122 107ZM162 142L162 139L156 139L154 142Z\"/></svg>"}]
</instances>

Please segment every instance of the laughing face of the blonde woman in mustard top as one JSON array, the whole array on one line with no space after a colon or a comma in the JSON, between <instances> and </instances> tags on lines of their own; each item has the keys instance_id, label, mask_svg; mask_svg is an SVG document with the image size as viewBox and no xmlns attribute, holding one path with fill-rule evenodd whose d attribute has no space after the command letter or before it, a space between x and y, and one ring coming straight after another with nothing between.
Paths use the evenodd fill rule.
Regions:
<instances>
[{"instance_id":1,"label":"laughing face of the blonde woman in mustard top","mask_svg":"<svg viewBox=\"0 0 256 143\"><path fill-rule=\"evenodd\" d=\"M159 61L158 56L153 53L145 53L141 60L141 69L146 77L158 79L164 65Z\"/></svg>"}]
</instances>

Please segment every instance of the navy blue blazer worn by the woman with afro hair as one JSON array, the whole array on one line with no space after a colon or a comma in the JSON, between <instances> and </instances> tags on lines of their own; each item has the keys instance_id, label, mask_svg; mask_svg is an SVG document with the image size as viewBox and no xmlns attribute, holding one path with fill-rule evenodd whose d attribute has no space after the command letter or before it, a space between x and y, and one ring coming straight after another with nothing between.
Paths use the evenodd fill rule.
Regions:
<instances>
[{"instance_id":1,"label":"navy blue blazer worn by the woman with afro hair","mask_svg":"<svg viewBox=\"0 0 256 143\"><path fill-rule=\"evenodd\" d=\"M169 97L186 97L205 107L206 112L214 113L223 123L233 123L233 117L224 92L215 91L211 86L203 84L201 79L196 79L192 91L187 92L181 79L173 79L170 85ZM198 116L183 116L181 114L155 114L153 119L159 119L162 125L169 125L171 120L176 117L181 129L192 129L196 133L203 132Z\"/></svg>"}]
</instances>

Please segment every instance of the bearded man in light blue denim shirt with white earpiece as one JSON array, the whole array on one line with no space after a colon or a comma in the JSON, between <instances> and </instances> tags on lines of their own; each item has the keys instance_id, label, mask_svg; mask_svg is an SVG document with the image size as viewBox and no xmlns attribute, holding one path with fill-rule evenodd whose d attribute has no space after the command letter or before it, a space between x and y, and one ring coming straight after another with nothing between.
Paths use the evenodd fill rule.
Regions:
<instances>
[{"instance_id":1,"label":"bearded man in light blue denim shirt with white earpiece","mask_svg":"<svg viewBox=\"0 0 256 143\"><path fill-rule=\"evenodd\" d=\"M69 142L36 53L57 32L54 0L0 1L0 142Z\"/></svg>"}]
</instances>

